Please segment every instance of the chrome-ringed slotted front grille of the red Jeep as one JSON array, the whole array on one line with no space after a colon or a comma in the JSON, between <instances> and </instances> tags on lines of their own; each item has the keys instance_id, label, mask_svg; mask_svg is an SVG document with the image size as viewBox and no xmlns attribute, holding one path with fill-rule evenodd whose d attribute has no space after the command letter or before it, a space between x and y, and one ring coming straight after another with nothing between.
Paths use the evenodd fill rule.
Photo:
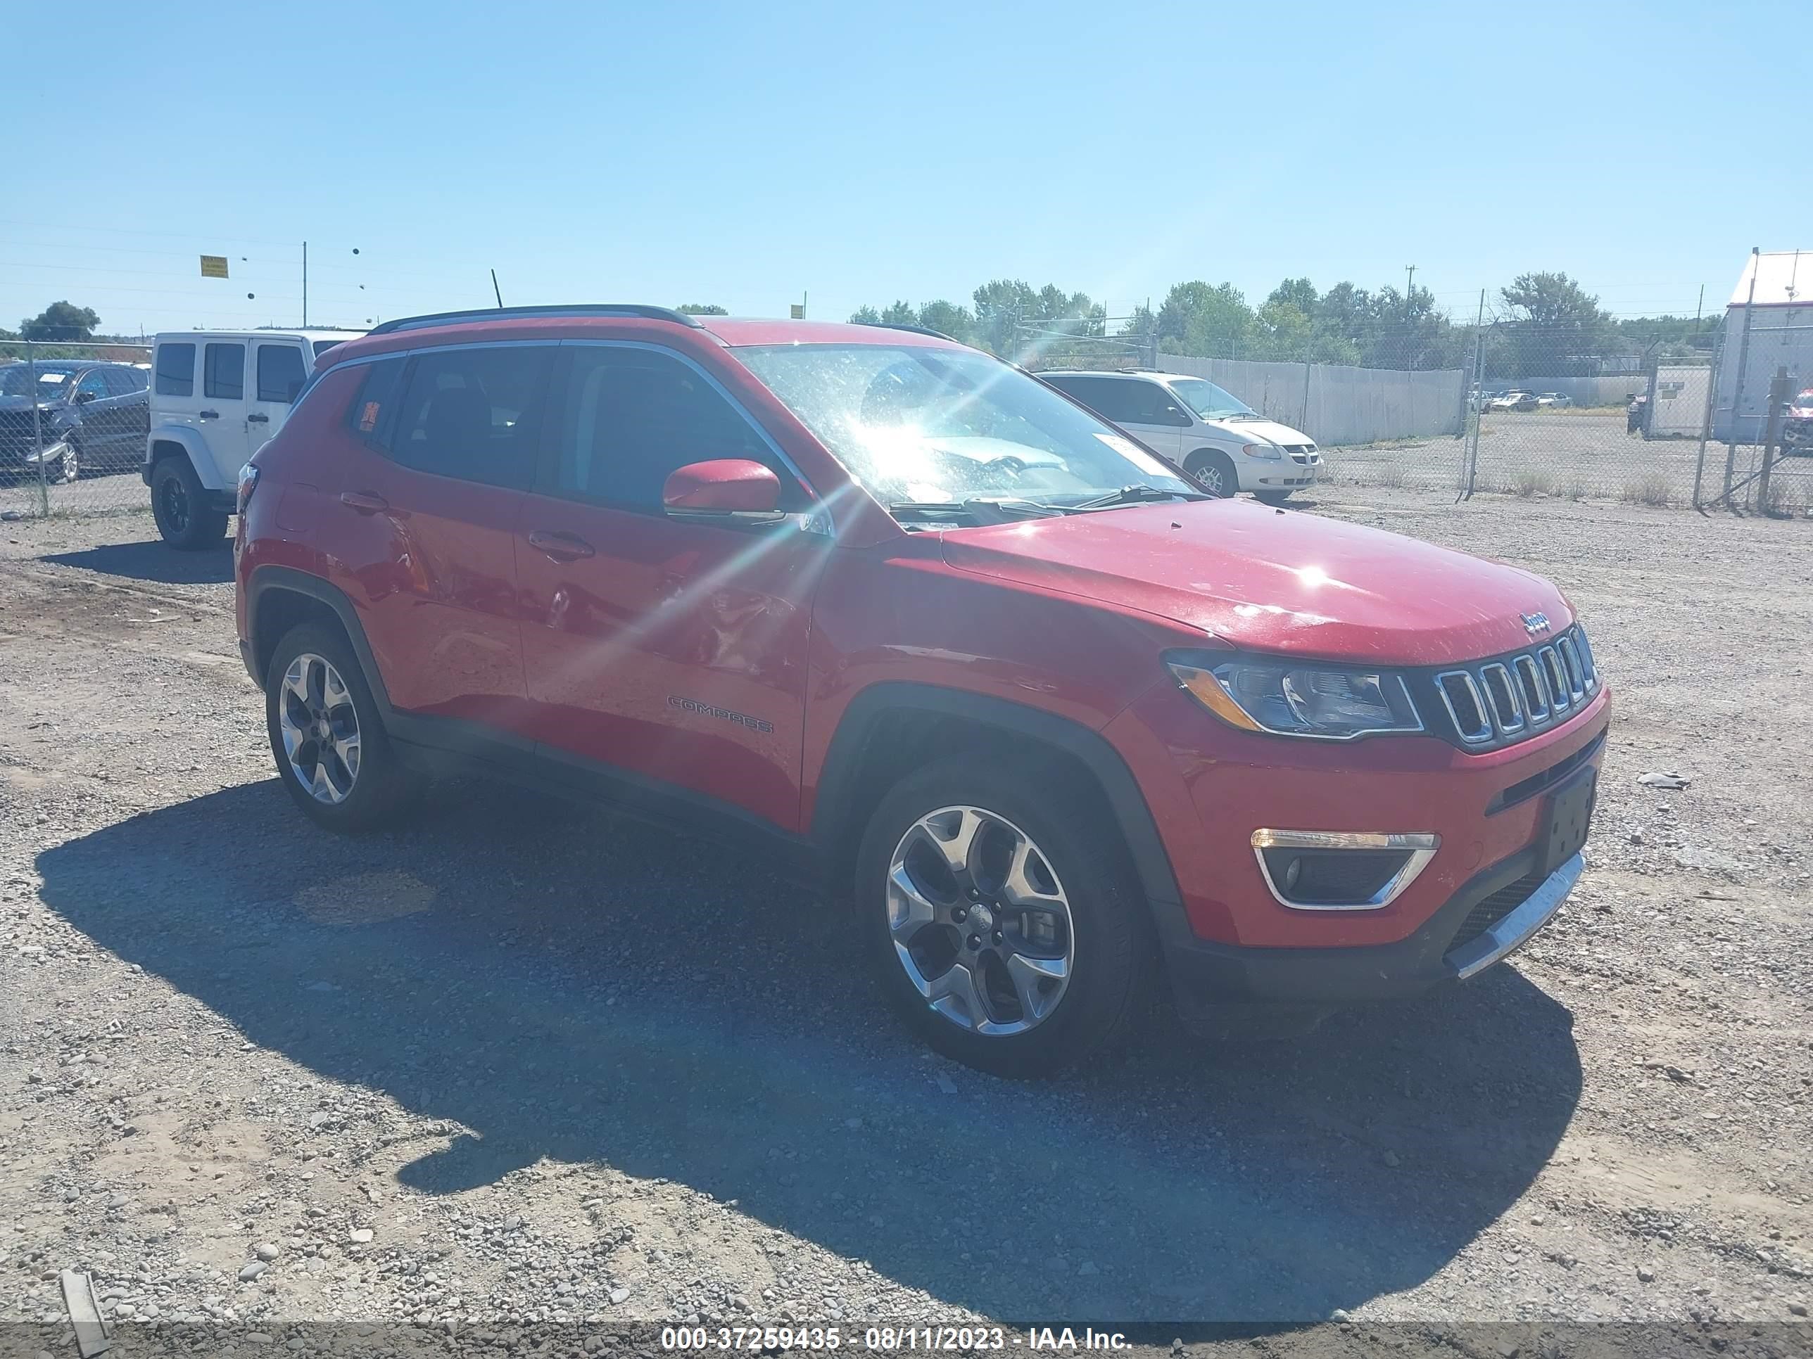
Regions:
<instances>
[{"instance_id":1,"label":"chrome-ringed slotted front grille of the red Jeep","mask_svg":"<svg viewBox=\"0 0 1813 1359\"><path fill-rule=\"evenodd\" d=\"M1599 689L1579 623L1554 641L1494 656L1434 680L1465 747L1512 745L1566 721Z\"/></svg>"}]
</instances>

